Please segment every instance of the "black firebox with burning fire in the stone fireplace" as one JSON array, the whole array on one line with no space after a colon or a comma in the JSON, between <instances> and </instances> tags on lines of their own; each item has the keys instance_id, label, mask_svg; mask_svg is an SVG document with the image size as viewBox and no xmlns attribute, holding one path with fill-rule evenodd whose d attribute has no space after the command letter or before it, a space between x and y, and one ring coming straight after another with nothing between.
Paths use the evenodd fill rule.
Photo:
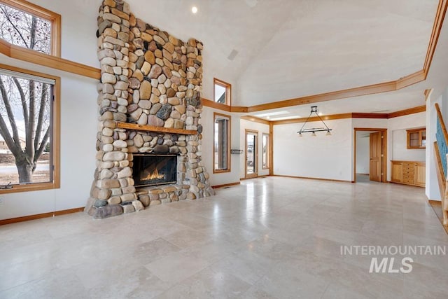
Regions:
<instances>
[{"instance_id":1,"label":"black firebox with burning fire in the stone fireplace","mask_svg":"<svg viewBox=\"0 0 448 299\"><path fill-rule=\"evenodd\" d=\"M177 155L134 154L134 186L176 183Z\"/></svg>"}]
</instances>

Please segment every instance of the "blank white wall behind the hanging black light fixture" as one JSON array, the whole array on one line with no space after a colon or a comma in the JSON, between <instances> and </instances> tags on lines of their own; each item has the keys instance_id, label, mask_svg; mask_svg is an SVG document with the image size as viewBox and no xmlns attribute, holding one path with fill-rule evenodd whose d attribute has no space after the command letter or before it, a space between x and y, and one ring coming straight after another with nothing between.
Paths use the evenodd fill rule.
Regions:
<instances>
[{"instance_id":1,"label":"blank white wall behind the hanging black light fixture","mask_svg":"<svg viewBox=\"0 0 448 299\"><path fill-rule=\"evenodd\" d=\"M274 174L352 181L352 120L325 123L332 136L318 132L317 137L308 133L298 137L301 124L274 125ZM309 127L321 125L309 123Z\"/></svg>"}]
</instances>

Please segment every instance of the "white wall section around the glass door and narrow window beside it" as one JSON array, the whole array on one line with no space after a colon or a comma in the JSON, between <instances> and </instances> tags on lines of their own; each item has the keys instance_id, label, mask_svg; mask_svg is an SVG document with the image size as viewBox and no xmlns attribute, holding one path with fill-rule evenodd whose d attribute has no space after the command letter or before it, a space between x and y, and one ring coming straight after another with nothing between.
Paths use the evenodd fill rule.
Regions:
<instances>
[{"instance_id":1,"label":"white wall section around the glass door and narrow window beside it","mask_svg":"<svg viewBox=\"0 0 448 299\"><path fill-rule=\"evenodd\" d=\"M258 132L258 176L267 176L269 175L269 169L263 169L262 167L262 134L269 134L269 125L265 125L263 123L255 123L253 121L249 120L243 120L241 119L240 122L240 129L239 129L239 144L241 145L241 149L244 150L242 155L239 155L239 164L240 164L240 172L239 177L244 178L246 175L245 172L245 161L244 161L244 153L246 151L246 141L244 140L246 138L246 131L245 130L253 130Z\"/></svg>"}]
</instances>

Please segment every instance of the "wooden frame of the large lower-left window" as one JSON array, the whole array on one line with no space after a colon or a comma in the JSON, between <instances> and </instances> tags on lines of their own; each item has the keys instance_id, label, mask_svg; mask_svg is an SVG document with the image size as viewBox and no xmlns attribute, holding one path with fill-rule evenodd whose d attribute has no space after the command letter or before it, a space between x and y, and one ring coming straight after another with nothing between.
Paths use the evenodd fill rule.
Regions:
<instances>
[{"instance_id":1,"label":"wooden frame of the large lower-left window","mask_svg":"<svg viewBox=\"0 0 448 299\"><path fill-rule=\"evenodd\" d=\"M37 71L30 71L28 69L21 69L18 67L12 67L6 64L0 64L0 68L8 69L10 71L17 71L23 74L29 74L33 76L38 76L42 78L49 78L55 81L53 85L53 101L52 101L52 128L51 128L51 143L52 143L52 182L45 183L27 183L13 185L13 188L0 189L0 194L6 193L19 193L19 192L29 192L35 190L49 190L60 188L60 86L61 79L57 76L52 76L48 74L39 73Z\"/></svg>"}]
</instances>

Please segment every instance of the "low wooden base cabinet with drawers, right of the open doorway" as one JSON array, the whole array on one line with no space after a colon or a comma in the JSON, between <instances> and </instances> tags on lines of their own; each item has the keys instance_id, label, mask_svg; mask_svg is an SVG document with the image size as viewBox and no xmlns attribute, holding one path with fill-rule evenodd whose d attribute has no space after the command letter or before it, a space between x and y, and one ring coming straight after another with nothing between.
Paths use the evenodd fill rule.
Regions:
<instances>
[{"instance_id":1,"label":"low wooden base cabinet with drawers, right of the open doorway","mask_svg":"<svg viewBox=\"0 0 448 299\"><path fill-rule=\"evenodd\" d=\"M392 161L391 182L424 187L425 167L425 162L420 161Z\"/></svg>"}]
</instances>

